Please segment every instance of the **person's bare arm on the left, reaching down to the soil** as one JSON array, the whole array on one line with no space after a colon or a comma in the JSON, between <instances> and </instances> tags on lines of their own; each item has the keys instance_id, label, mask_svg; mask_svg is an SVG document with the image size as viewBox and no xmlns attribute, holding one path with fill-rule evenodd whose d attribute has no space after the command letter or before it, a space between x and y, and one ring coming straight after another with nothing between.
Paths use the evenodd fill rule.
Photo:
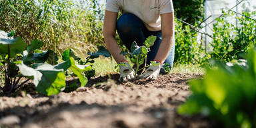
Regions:
<instances>
[{"instance_id":1,"label":"person's bare arm on the left, reaching down to the soil","mask_svg":"<svg viewBox=\"0 0 256 128\"><path fill-rule=\"evenodd\" d=\"M125 57L120 54L121 49L115 39L116 22L118 13L112 11L105 11L104 25L103 25L103 36L107 49L115 59L117 63L127 61Z\"/></svg>"}]
</instances>

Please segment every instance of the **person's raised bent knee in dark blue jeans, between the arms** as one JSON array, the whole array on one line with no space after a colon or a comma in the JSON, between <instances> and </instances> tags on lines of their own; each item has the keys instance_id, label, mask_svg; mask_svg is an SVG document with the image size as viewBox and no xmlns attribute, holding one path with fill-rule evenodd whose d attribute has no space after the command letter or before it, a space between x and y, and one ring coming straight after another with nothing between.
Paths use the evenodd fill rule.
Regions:
<instances>
[{"instance_id":1,"label":"person's raised bent knee in dark blue jeans, between the arms","mask_svg":"<svg viewBox=\"0 0 256 128\"><path fill-rule=\"evenodd\" d=\"M145 25L141 19L131 13L125 13L117 20L117 33L129 50L133 41L136 41L137 45L143 45L145 41L143 31Z\"/></svg>"}]
</instances>

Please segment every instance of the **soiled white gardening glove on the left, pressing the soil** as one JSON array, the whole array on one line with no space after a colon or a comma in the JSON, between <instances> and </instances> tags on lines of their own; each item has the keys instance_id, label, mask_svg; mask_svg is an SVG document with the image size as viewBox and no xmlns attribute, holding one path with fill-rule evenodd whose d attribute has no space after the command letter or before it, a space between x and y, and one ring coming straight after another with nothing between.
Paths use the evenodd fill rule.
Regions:
<instances>
[{"instance_id":1,"label":"soiled white gardening glove on the left, pressing the soil","mask_svg":"<svg viewBox=\"0 0 256 128\"><path fill-rule=\"evenodd\" d=\"M133 68L131 68L128 62L118 63L118 65L120 68L120 77L119 77L120 82L122 81L125 82L131 79L134 79L135 71L133 70Z\"/></svg>"}]
</instances>

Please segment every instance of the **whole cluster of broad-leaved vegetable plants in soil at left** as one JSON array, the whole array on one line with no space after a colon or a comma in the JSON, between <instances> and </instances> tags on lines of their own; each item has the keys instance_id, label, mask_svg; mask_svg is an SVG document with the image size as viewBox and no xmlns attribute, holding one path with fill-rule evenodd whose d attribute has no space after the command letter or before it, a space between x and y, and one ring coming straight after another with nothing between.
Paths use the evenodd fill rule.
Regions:
<instances>
[{"instance_id":1,"label":"whole cluster of broad-leaved vegetable plants in soil at left","mask_svg":"<svg viewBox=\"0 0 256 128\"><path fill-rule=\"evenodd\" d=\"M84 71L91 71L90 65L77 65L73 57L67 55L63 63L50 65L45 63L47 60L53 62L53 51L38 50L43 46L43 42L33 40L26 47L26 43L17 37L13 39L15 32L5 33L0 31L0 65L5 69L5 85L3 92L15 91L17 87L23 85L29 79L39 93L44 95L54 95L65 89L64 71L70 69L77 77L81 86L87 83ZM25 50L27 49L27 50ZM55 62L56 63L56 62ZM28 79L19 85L22 77Z\"/></svg>"}]
</instances>

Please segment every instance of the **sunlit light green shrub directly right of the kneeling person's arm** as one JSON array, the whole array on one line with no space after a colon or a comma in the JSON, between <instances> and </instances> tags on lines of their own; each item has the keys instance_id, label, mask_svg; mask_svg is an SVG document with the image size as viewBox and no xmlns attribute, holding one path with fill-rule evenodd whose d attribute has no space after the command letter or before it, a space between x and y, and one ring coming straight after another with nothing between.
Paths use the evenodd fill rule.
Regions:
<instances>
[{"instance_id":1,"label":"sunlit light green shrub directly right of the kneeling person's arm","mask_svg":"<svg viewBox=\"0 0 256 128\"><path fill-rule=\"evenodd\" d=\"M202 43L197 42L197 33L189 25L175 20L174 63L203 64L208 58Z\"/></svg>"}]
</instances>

